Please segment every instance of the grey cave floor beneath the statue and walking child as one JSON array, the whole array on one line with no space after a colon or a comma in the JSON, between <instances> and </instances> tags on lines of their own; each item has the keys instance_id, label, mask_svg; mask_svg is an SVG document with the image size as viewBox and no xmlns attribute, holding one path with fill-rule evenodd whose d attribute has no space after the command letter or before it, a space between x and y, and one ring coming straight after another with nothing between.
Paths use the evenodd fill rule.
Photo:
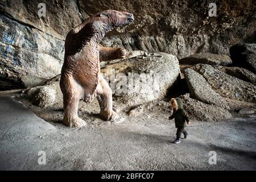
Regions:
<instances>
[{"instance_id":1,"label":"grey cave floor beneath the statue and walking child","mask_svg":"<svg viewBox=\"0 0 256 182\"><path fill-rule=\"evenodd\" d=\"M188 138L174 144L176 129L167 119L170 109L164 101L120 111L119 123L102 121L98 111L96 101L81 104L79 115L88 125L70 128L61 123L62 109L40 111L25 101L1 97L0 169L256 169L255 114L220 122L192 121ZM46 154L46 164L38 163L40 151ZM216 164L209 164L210 151L216 152Z\"/></svg>"}]
</instances>

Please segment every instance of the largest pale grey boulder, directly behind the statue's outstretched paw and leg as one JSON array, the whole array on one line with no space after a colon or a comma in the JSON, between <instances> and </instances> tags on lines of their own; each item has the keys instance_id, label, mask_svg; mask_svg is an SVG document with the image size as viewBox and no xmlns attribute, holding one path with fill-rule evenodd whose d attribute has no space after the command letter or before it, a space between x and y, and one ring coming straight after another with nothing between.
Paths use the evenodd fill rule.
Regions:
<instances>
[{"instance_id":1,"label":"largest pale grey boulder, directly behind the statue's outstretched paw and leg","mask_svg":"<svg viewBox=\"0 0 256 182\"><path fill-rule=\"evenodd\" d=\"M176 56L140 53L102 69L114 96L129 106L163 98L180 75Z\"/></svg>"}]
</instances>

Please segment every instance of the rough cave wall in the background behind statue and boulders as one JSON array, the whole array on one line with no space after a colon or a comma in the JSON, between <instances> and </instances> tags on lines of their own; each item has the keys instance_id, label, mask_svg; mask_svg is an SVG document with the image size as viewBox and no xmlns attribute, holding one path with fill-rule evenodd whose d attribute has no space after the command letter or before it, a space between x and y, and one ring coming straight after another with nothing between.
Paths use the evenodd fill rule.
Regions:
<instances>
[{"instance_id":1,"label":"rough cave wall in the background behind statue and boulders","mask_svg":"<svg viewBox=\"0 0 256 182\"><path fill-rule=\"evenodd\" d=\"M0 89L41 84L60 73L65 35L89 15L106 9L135 16L129 27L105 37L104 46L167 52L181 59L200 52L229 55L237 43L256 42L256 2L185 0L0 1ZM39 17L39 3L46 16Z\"/></svg>"}]
</instances>

